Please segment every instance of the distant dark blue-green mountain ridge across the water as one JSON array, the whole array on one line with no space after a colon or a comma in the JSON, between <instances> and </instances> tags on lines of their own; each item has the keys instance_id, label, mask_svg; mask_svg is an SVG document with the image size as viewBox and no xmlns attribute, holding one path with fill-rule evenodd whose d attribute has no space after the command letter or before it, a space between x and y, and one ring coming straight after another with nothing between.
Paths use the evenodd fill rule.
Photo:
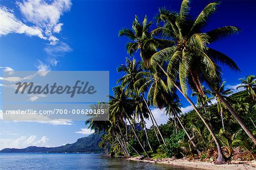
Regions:
<instances>
[{"instance_id":1,"label":"distant dark blue-green mountain ridge across the water","mask_svg":"<svg viewBox=\"0 0 256 170\"><path fill-rule=\"evenodd\" d=\"M98 142L101 141L103 133L91 134L88 137L77 139L75 143L67 144L59 147L36 147L30 146L27 148L5 148L0 152L43 152L43 153L76 153L76 152L104 152L103 148L98 147Z\"/></svg>"}]
</instances>

